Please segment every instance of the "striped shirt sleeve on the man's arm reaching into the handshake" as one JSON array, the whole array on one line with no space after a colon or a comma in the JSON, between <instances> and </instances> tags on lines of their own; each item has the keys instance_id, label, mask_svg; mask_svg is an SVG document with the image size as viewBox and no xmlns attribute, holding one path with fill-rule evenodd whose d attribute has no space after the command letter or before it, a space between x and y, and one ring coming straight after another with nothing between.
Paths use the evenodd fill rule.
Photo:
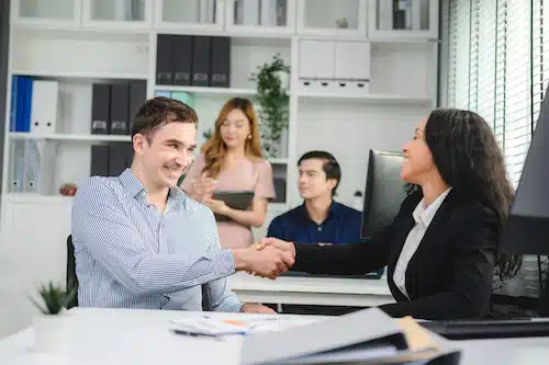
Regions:
<instances>
[{"instance_id":1,"label":"striped shirt sleeve on the man's arm reaching into the handshake","mask_svg":"<svg viewBox=\"0 0 549 365\"><path fill-rule=\"evenodd\" d=\"M104 178L93 176L75 196L72 238L114 280L136 295L165 294L235 272L231 250L211 247L192 262L181 254L153 253Z\"/></svg>"}]
</instances>

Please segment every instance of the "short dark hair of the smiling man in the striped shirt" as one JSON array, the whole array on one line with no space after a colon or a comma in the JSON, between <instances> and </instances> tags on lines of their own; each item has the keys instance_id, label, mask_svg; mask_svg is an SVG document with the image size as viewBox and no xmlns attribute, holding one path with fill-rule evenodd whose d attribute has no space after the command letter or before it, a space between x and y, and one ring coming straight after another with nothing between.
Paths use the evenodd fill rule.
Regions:
<instances>
[{"instance_id":1,"label":"short dark hair of the smiling man in the striped shirt","mask_svg":"<svg viewBox=\"0 0 549 365\"><path fill-rule=\"evenodd\" d=\"M179 100L165 96L149 99L133 117L132 138L143 134L149 140L156 129L172 122L194 123L198 126L199 118L192 107Z\"/></svg>"}]
</instances>

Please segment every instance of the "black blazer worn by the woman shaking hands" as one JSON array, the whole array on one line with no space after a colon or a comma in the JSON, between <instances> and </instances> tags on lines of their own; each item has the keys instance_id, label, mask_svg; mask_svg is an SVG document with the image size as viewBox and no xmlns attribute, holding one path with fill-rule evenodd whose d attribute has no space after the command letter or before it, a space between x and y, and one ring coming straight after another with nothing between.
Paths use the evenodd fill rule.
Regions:
<instances>
[{"instance_id":1,"label":"black blazer worn by the woman shaking hands","mask_svg":"<svg viewBox=\"0 0 549 365\"><path fill-rule=\"evenodd\" d=\"M396 303L380 308L392 317L418 319L480 318L492 289L501 223L477 202L463 201L453 190L440 205L406 270L406 298L393 273L408 232L421 192L406 197L393 223L369 242L324 246L295 242L293 270L316 274L356 275L388 266L388 282Z\"/></svg>"}]
</instances>

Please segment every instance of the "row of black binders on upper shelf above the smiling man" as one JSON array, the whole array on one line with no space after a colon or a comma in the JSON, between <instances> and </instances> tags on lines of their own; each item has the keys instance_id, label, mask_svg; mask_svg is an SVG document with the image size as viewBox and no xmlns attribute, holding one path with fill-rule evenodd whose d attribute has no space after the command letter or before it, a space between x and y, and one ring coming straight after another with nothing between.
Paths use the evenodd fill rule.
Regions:
<instances>
[{"instance_id":1,"label":"row of black binders on upper shelf above the smiling man","mask_svg":"<svg viewBox=\"0 0 549 365\"><path fill-rule=\"evenodd\" d=\"M231 87L231 37L159 34L156 83Z\"/></svg>"}]
</instances>

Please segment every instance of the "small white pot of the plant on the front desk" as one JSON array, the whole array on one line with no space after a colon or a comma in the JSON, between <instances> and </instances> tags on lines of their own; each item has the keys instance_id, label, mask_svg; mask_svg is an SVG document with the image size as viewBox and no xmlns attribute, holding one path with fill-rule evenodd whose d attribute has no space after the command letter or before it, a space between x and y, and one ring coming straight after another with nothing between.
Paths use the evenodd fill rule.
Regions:
<instances>
[{"instance_id":1,"label":"small white pot of the plant on the front desk","mask_svg":"<svg viewBox=\"0 0 549 365\"><path fill-rule=\"evenodd\" d=\"M67 352L71 339L70 316L36 315L34 324L34 349L38 352Z\"/></svg>"}]
</instances>

